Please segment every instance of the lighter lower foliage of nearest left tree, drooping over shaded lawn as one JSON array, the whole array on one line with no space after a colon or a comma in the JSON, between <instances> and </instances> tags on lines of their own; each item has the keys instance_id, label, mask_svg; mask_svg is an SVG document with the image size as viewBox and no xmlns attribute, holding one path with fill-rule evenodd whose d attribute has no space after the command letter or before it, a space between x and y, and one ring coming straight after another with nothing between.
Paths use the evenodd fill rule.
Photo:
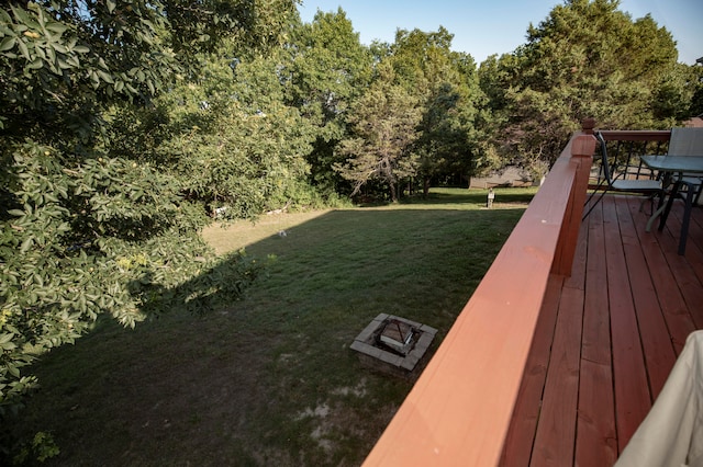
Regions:
<instances>
[{"instance_id":1,"label":"lighter lower foliage of nearest left tree, drooping over shaded lawn","mask_svg":"<svg viewBox=\"0 0 703 467\"><path fill-rule=\"evenodd\" d=\"M134 327L171 309L204 312L241 295L259 271L243 255L214 258L175 179L121 159L62 162L27 143L9 170L0 414L34 386L21 368L74 342L100 314Z\"/></svg>"}]
</instances>

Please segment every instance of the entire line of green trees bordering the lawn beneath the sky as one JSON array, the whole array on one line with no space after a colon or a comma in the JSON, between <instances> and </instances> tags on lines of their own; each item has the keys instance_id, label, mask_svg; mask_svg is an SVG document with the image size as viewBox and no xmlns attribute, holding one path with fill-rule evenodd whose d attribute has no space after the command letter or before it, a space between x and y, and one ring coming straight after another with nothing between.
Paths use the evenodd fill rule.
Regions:
<instances>
[{"instance_id":1,"label":"entire line of green trees bordering the lawn beneath the sky","mask_svg":"<svg viewBox=\"0 0 703 467\"><path fill-rule=\"evenodd\" d=\"M215 218L397 201L518 166L543 175L584 117L703 113L703 67L617 0L566 0L476 64L453 34L364 45L299 0L11 0L0 10L0 419L27 366L98 316L220 307L260 273ZM4 421L2 423L5 425Z\"/></svg>"}]
</instances>

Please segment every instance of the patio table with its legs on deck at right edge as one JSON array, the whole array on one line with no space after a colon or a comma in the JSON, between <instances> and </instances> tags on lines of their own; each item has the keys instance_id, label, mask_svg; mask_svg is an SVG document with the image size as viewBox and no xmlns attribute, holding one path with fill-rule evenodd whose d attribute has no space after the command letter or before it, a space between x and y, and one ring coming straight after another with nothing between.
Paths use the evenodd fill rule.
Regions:
<instances>
[{"instance_id":1,"label":"patio table with its legs on deck at right edge","mask_svg":"<svg viewBox=\"0 0 703 467\"><path fill-rule=\"evenodd\" d=\"M685 196L685 209L683 212L683 223L681 225L681 237L679 238L679 254L683 254L685 251L685 241L689 232L689 221L691 218L691 209L693 207L693 197L695 196L695 186L683 180L684 173L687 175L700 174L703 176L703 155L701 156L641 156L641 161L651 170L658 171L663 176L673 178L673 186L669 194L669 200L666 205L662 201L659 208L651 215L647 221L647 231L651 230L655 219L661 215L659 220L659 230L663 230L663 226L667 223L667 217L673 205L673 200L677 197L681 185L688 184L688 191Z\"/></svg>"}]
</instances>

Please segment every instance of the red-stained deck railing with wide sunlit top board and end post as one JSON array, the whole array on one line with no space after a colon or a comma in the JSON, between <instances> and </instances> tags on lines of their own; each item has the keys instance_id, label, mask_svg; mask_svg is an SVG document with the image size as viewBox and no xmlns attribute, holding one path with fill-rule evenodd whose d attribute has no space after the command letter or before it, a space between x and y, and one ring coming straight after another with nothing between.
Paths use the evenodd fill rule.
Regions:
<instances>
[{"instance_id":1,"label":"red-stained deck railing with wide sunlit top board and end post","mask_svg":"<svg viewBox=\"0 0 703 467\"><path fill-rule=\"evenodd\" d=\"M496 465L550 274L569 275L595 138L577 133L365 465Z\"/></svg>"}]
</instances>

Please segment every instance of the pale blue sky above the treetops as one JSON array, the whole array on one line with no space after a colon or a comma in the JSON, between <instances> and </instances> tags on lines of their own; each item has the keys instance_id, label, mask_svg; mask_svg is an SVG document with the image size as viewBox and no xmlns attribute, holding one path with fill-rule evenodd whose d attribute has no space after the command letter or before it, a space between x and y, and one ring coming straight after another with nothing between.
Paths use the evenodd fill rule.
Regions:
<instances>
[{"instance_id":1,"label":"pale blue sky above the treetops","mask_svg":"<svg viewBox=\"0 0 703 467\"><path fill-rule=\"evenodd\" d=\"M470 54L477 64L489 55L513 52L526 43L527 27L537 26L560 0L303 0L300 15L311 22L317 10L341 7L362 44L392 43L398 29L454 34L453 49ZM679 61L703 57L702 0L621 0L620 10L634 20L647 13L677 42Z\"/></svg>"}]
</instances>

